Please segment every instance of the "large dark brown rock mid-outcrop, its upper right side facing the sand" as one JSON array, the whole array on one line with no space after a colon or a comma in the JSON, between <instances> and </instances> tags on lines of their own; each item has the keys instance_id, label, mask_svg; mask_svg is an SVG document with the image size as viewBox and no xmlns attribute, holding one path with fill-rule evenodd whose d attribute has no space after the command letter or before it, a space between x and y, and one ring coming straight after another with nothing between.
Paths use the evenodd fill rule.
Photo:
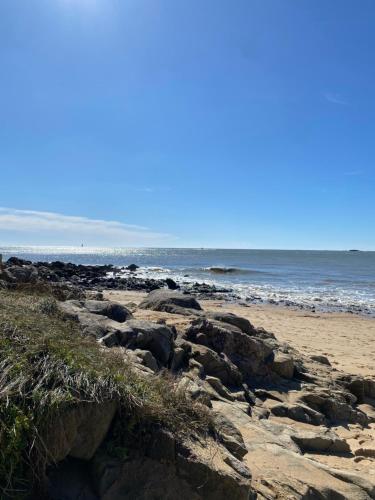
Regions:
<instances>
[{"instance_id":1,"label":"large dark brown rock mid-outcrop, its upper right side facing the sand","mask_svg":"<svg viewBox=\"0 0 375 500\"><path fill-rule=\"evenodd\" d=\"M268 374L273 352L263 341L243 333L234 325L207 319L194 320L186 337L192 342L201 343L200 334L204 335L207 347L225 354L244 377Z\"/></svg>"}]
</instances>

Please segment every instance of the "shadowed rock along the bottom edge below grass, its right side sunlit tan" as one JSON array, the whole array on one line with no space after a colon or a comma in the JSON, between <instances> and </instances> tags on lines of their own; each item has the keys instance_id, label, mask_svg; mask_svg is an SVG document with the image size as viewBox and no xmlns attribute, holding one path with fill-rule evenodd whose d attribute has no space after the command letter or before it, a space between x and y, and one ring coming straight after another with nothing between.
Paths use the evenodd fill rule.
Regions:
<instances>
[{"instance_id":1,"label":"shadowed rock along the bottom edge below grass, its right side sunlit tan","mask_svg":"<svg viewBox=\"0 0 375 500\"><path fill-rule=\"evenodd\" d=\"M48 493L51 500L249 500L250 472L237 462L211 439L181 442L159 430L141 446L131 443L126 460L102 452L62 462L49 471Z\"/></svg>"}]
</instances>

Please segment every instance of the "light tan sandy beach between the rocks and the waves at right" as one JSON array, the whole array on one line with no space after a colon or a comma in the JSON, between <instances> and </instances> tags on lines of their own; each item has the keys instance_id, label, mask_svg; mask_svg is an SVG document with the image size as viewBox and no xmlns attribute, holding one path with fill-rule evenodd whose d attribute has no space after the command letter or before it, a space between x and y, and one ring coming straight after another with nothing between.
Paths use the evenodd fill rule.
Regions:
<instances>
[{"instance_id":1,"label":"light tan sandy beach between the rocks and the waves at right","mask_svg":"<svg viewBox=\"0 0 375 500\"><path fill-rule=\"evenodd\" d=\"M141 292L109 291L105 297L122 304L139 303L147 294ZM254 326L273 332L302 354L324 355L332 366L347 373L375 375L375 319L347 313L310 313L287 307L253 305L241 306L217 300L201 300L206 310L233 312L249 319ZM137 310L135 316L155 319L165 313ZM170 316L173 323L183 324L186 318Z\"/></svg>"}]
</instances>

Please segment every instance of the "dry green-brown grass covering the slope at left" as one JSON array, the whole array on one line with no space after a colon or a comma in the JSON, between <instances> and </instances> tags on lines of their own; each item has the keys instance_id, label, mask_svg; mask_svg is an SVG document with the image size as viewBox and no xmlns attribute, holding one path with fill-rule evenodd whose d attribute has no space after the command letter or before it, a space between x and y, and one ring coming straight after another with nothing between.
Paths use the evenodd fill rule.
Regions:
<instances>
[{"instance_id":1,"label":"dry green-brown grass covering the slope at left","mask_svg":"<svg viewBox=\"0 0 375 500\"><path fill-rule=\"evenodd\" d=\"M83 401L109 400L138 427L185 435L212 428L208 411L175 379L140 376L64 320L49 295L0 291L0 498L23 498L43 477L46 425Z\"/></svg>"}]
</instances>

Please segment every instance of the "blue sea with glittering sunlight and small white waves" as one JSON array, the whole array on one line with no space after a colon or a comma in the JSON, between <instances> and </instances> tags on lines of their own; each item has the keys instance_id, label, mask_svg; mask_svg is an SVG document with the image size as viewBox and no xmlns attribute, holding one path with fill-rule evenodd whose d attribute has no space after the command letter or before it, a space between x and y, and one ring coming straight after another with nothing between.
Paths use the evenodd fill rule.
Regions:
<instances>
[{"instance_id":1,"label":"blue sea with glittering sunlight and small white waves","mask_svg":"<svg viewBox=\"0 0 375 500\"><path fill-rule=\"evenodd\" d=\"M375 314L375 252L0 247L32 261L141 266L139 275L230 287L243 300Z\"/></svg>"}]
</instances>

